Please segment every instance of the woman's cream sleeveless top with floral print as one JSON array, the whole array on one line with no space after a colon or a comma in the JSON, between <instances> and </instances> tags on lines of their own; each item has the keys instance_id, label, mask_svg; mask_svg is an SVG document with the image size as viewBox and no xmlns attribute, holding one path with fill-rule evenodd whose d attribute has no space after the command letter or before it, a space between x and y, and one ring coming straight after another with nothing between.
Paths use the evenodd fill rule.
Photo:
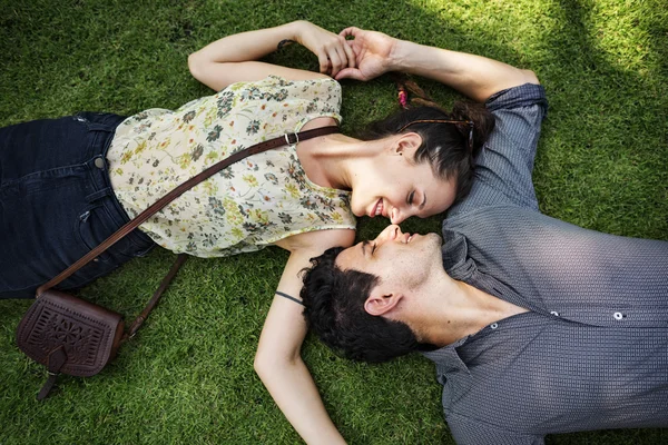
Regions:
<instances>
[{"instance_id":1,"label":"woman's cream sleeveless top with floral print","mask_svg":"<svg viewBox=\"0 0 668 445\"><path fill-rule=\"evenodd\" d=\"M333 79L269 76L238 82L176 111L126 119L107 154L114 191L130 217L225 157L318 117L341 121ZM157 244L198 257L258 250L292 235L354 229L350 192L308 180L296 146L233 164L157 212L140 229Z\"/></svg>"}]
</instances>

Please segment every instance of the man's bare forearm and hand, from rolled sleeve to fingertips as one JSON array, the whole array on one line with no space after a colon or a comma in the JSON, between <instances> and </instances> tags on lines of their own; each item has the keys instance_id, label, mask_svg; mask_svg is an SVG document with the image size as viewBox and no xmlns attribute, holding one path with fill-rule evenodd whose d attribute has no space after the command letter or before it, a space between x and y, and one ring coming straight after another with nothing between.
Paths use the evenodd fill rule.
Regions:
<instances>
[{"instance_id":1,"label":"man's bare forearm and hand, from rolled sleeve to fingertips","mask_svg":"<svg viewBox=\"0 0 668 445\"><path fill-rule=\"evenodd\" d=\"M357 67L341 70L336 79L369 80L384 72L402 71L438 80L479 102L507 88L539 83L533 71L481 56L426 47L354 27L344 29L341 36L354 38L347 43L355 52Z\"/></svg>"}]
</instances>

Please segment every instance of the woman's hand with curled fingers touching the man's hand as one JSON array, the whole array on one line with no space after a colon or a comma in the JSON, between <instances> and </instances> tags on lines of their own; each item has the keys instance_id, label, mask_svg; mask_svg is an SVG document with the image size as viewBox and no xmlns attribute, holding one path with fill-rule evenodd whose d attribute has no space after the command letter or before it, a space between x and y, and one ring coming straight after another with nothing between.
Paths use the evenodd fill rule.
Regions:
<instances>
[{"instance_id":1,"label":"woman's hand with curled fingers touching the man's hand","mask_svg":"<svg viewBox=\"0 0 668 445\"><path fill-rule=\"evenodd\" d=\"M355 68L355 55L345 37L336 36L308 21L296 21L295 40L317 56L320 71L336 77L345 68Z\"/></svg>"}]
</instances>

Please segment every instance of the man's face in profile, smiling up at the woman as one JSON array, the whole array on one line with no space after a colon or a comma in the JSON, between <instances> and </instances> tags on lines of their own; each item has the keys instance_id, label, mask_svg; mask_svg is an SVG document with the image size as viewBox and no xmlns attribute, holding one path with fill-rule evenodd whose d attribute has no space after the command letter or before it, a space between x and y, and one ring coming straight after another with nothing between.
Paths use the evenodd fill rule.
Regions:
<instances>
[{"instance_id":1,"label":"man's face in profile, smiling up at the woman","mask_svg":"<svg viewBox=\"0 0 668 445\"><path fill-rule=\"evenodd\" d=\"M404 291L419 287L438 267L443 270L441 237L411 235L399 226L387 226L374 240L362 241L338 254L336 266L381 278L381 285Z\"/></svg>"}]
</instances>

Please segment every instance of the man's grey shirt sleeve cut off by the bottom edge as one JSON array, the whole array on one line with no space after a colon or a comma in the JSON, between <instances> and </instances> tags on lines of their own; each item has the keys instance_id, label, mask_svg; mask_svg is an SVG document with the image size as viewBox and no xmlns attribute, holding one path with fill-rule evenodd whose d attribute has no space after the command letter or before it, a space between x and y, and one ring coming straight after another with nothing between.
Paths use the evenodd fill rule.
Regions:
<instances>
[{"instance_id":1,"label":"man's grey shirt sleeve cut off by the bottom edge","mask_svg":"<svg viewBox=\"0 0 668 445\"><path fill-rule=\"evenodd\" d=\"M544 436L509 432L478 419L446 414L458 445L544 445Z\"/></svg>"}]
</instances>

